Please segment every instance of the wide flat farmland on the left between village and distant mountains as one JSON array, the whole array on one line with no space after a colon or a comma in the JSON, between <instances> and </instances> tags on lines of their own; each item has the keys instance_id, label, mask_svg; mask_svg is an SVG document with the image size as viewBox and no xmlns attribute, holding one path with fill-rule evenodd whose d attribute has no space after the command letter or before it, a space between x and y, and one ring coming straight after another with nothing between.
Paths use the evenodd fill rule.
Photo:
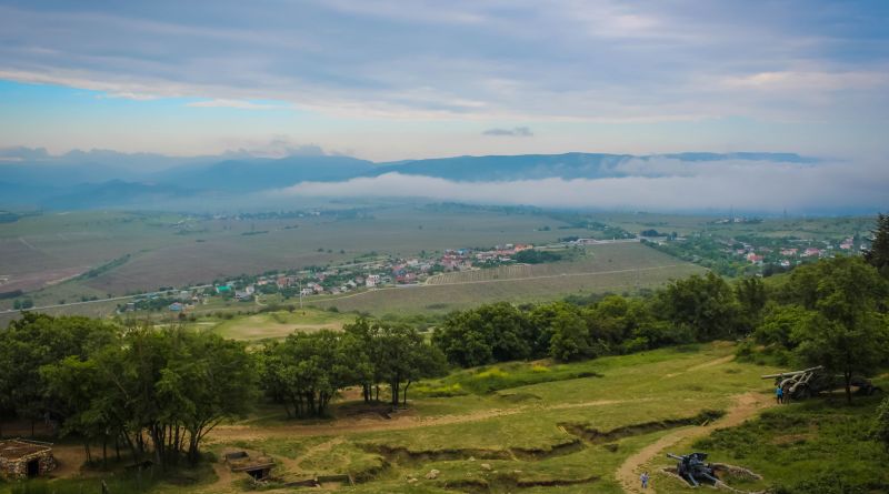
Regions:
<instances>
[{"instance_id":1,"label":"wide flat farmland on the left between village and distant mountains","mask_svg":"<svg viewBox=\"0 0 889 494\"><path fill-rule=\"evenodd\" d=\"M412 205L377 206L358 216L330 212L264 220L47 213L0 224L0 291L30 292L37 305L48 305L72 296L122 295L343 263L373 252L407 256L461 246L546 243L582 233L542 213L455 214ZM94 274L84 275L90 271ZM9 306L10 300L0 300L0 309Z\"/></svg>"}]
</instances>

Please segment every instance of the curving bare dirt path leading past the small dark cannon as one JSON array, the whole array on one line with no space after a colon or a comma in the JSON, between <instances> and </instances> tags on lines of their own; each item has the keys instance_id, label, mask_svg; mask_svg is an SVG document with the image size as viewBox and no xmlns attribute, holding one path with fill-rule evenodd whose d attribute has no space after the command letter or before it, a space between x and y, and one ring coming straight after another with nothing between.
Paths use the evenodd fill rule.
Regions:
<instances>
[{"instance_id":1,"label":"curving bare dirt path leading past the small dark cannon","mask_svg":"<svg viewBox=\"0 0 889 494\"><path fill-rule=\"evenodd\" d=\"M736 397L735 406L732 406L723 417L703 426L678 429L628 457L623 464L620 465L620 468L618 468L616 474L617 480L623 487L623 492L641 494L642 491L639 488L639 475L641 474L641 466L650 462L656 456L662 455L665 450L683 440L706 436L717 429L740 425L746 420L756 415L759 411L772 406L773 404L775 403L772 403L770 396L760 393L750 392L740 394ZM646 493L655 492L657 491L652 487L649 487L649 490L646 491Z\"/></svg>"}]
</instances>

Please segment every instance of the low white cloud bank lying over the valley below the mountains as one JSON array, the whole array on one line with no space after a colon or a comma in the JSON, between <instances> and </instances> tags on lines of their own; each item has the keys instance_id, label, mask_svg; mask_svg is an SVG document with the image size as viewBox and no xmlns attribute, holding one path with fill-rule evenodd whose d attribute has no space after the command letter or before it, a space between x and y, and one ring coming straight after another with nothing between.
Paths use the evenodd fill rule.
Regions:
<instances>
[{"instance_id":1,"label":"low white cloud bank lying over the valley below the mountains","mask_svg":"<svg viewBox=\"0 0 889 494\"><path fill-rule=\"evenodd\" d=\"M482 204L630 211L873 212L889 209L889 170L879 164L628 160L629 177L457 182L388 173L346 182L303 182L290 196L427 198Z\"/></svg>"}]
</instances>

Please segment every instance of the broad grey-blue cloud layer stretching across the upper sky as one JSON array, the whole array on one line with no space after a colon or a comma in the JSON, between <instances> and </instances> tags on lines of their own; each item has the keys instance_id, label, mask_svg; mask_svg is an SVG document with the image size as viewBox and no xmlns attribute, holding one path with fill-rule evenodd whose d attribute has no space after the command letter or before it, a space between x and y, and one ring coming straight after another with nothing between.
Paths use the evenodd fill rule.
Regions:
<instances>
[{"instance_id":1,"label":"broad grey-blue cloud layer stretching across the upper sky","mask_svg":"<svg viewBox=\"0 0 889 494\"><path fill-rule=\"evenodd\" d=\"M880 2L701 3L8 0L0 78L361 117L886 114Z\"/></svg>"}]
</instances>

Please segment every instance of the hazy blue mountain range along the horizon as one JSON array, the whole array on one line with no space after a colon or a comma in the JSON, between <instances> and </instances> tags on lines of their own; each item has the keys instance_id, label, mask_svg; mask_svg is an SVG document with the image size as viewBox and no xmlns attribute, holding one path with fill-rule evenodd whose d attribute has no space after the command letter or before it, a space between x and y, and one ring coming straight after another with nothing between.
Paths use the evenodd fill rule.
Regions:
<instances>
[{"instance_id":1,"label":"hazy blue mountain range along the horizon","mask_svg":"<svg viewBox=\"0 0 889 494\"><path fill-rule=\"evenodd\" d=\"M244 153L171 158L113 151L73 151L53 157L27 148L0 150L0 208L51 210L157 206L169 200L218 198L283 189L300 182L337 182L386 173L461 182L548 178L627 177L631 160L679 162L759 161L807 164L793 153L520 154L455 157L373 163L342 155L254 158Z\"/></svg>"}]
</instances>

